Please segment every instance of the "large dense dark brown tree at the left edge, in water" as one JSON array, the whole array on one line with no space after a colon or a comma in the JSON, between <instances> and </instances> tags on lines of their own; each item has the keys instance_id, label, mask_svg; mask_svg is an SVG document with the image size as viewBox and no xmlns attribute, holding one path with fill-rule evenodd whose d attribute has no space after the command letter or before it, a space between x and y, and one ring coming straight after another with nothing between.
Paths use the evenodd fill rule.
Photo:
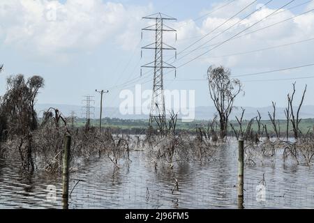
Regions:
<instances>
[{"instance_id":1,"label":"large dense dark brown tree at the left edge, in water","mask_svg":"<svg viewBox=\"0 0 314 223\"><path fill-rule=\"evenodd\" d=\"M33 76L24 79L23 75L8 77L7 91L1 98L1 128L6 128L6 135L20 141L19 153L23 167L33 171L32 131L38 127L37 114L34 108L36 96L44 86L42 77ZM3 132L3 130L2 130Z\"/></svg>"}]
</instances>

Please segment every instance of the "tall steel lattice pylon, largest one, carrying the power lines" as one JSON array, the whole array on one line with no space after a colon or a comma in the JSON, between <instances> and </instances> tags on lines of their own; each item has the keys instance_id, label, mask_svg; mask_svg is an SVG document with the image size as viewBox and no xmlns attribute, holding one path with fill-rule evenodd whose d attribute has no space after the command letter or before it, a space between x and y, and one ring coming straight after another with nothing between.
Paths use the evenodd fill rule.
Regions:
<instances>
[{"instance_id":1,"label":"tall steel lattice pylon, largest one, carrying the power lines","mask_svg":"<svg viewBox=\"0 0 314 223\"><path fill-rule=\"evenodd\" d=\"M156 122L158 124L157 126L158 130L160 130L160 132L163 132L166 126L165 97L163 94L163 68L175 69L174 66L163 61L163 50L164 49L176 50L174 47L171 47L170 45L167 45L166 43L163 42L164 31L176 32L175 29L172 29L170 26L165 25L164 20L177 20L177 19L167 16L163 13L156 13L153 15L149 15L149 16L143 17L143 19L156 21L154 25L151 25L142 29L142 31L155 31L155 39L156 39L155 43L151 43L149 45L142 47L142 49L154 49L155 50L155 61L151 63L147 63L142 66L142 68L154 68L154 86L153 86L153 94L151 97L149 128L152 128L153 123ZM176 38L177 38L177 35L176 35Z\"/></svg>"}]
</instances>

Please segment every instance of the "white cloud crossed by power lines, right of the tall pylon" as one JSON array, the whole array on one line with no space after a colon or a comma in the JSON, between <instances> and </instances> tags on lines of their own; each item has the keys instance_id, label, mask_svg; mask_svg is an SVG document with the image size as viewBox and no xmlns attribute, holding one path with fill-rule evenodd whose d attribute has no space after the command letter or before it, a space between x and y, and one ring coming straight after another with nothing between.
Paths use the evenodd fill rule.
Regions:
<instances>
[{"instance_id":1,"label":"white cloud crossed by power lines, right of the tall pylon","mask_svg":"<svg viewBox=\"0 0 314 223\"><path fill-rule=\"evenodd\" d=\"M225 22L229 17L237 13L241 8L244 8L250 2L252 1L238 1L237 7L234 7L234 5L230 4L230 6L224 8L223 11L220 10L204 18L199 26L197 26L195 22L190 22L189 24L192 24L193 26L188 26L186 30L179 30L178 35L181 36L181 38L183 39L189 38L192 31L194 36L204 36L204 34L213 31L217 26L223 24L223 22ZM223 4L225 3L219 3L215 7L220 7ZM307 7L307 10L314 8L313 3L311 4L312 5L309 5ZM249 13L252 13L257 8L260 8L260 5L253 5L251 8L246 10L245 13L237 15L237 17L234 17L232 20L227 22L227 24L221 26L218 30L211 33L195 46L190 47L189 50L195 49L195 47L202 45L201 49L191 52L189 56L186 56L186 58L182 59L175 65L180 65L183 62L188 61L188 59L193 59L196 56L199 56L200 54L214 47L214 44L222 43L223 41L231 38L240 31L243 31L244 29L250 27L256 22L262 20L262 18L266 17L267 15L274 13L276 10L269 8L269 6L264 6L262 9L258 10L256 13L253 13L253 15L247 17L244 21L240 22L240 24L237 24L232 29L225 31L225 29L232 26L232 24L236 24L237 22L239 22L239 20L244 18ZM307 63L309 61L309 58L314 56L313 42L306 42L299 45L290 45L287 47L281 47L262 52L255 52L253 54L222 57L223 55L227 54L234 54L237 52L249 52L255 49L273 47L286 43L297 42L299 40L305 40L308 38L314 38L314 12L312 11L310 13L295 17L294 19L290 19L291 17L294 17L296 15L298 14L294 14L290 10L279 10L278 13L276 13L275 15L267 17L266 20L259 22L252 28L244 31L244 33L239 34L239 36L243 37L230 40L228 43L217 47L217 49L214 49L204 56L201 56L200 59L197 59L195 61L195 63L197 63L197 61L202 61L202 63L207 64L222 64L231 68L237 67L251 70L260 70L261 68L265 67L267 67L267 69L271 69L273 67L280 68L284 66ZM287 21L282 22L284 20ZM278 22L282 23L273 26L273 24L276 24ZM267 29L263 29L267 26L270 27ZM257 31L258 29L262 30ZM225 32L221 33L222 31ZM252 31L257 32L248 34ZM244 36L245 34L248 35ZM196 38L195 40L198 39L199 38ZM188 41L188 43L182 43L181 45L179 45L178 48L184 49L186 45L190 45L195 40L190 40ZM209 41L209 43L206 43L207 41Z\"/></svg>"}]
</instances>

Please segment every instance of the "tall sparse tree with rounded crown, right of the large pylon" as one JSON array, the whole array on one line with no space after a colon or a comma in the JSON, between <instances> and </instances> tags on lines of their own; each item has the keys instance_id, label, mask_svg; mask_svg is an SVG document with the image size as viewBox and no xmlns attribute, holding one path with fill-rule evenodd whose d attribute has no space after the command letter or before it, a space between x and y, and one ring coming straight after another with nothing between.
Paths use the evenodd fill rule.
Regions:
<instances>
[{"instance_id":1,"label":"tall sparse tree with rounded crown, right of the large pylon","mask_svg":"<svg viewBox=\"0 0 314 223\"><path fill-rule=\"evenodd\" d=\"M209 93L217 109L220 122L220 139L227 136L227 124L233 109L234 99L242 91L239 79L231 79L229 69L210 66L207 70Z\"/></svg>"}]
</instances>

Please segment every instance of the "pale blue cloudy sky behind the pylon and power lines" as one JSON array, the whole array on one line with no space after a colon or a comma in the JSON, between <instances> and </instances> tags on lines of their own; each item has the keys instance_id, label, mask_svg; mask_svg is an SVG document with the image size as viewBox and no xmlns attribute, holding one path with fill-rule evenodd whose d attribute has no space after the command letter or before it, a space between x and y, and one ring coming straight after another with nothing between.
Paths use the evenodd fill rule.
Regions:
<instances>
[{"instance_id":1,"label":"pale blue cloudy sky behind the pylon and power lines","mask_svg":"<svg viewBox=\"0 0 314 223\"><path fill-rule=\"evenodd\" d=\"M207 69L222 65L244 84L237 106L285 107L294 82L296 99L307 84L304 105L314 105L314 1L230 1L0 0L0 95L9 75L40 75L40 104L81 105L89 94L97 106L95 89L109 89L104 106L119 107L121 91L152 88L153 72L140 76L140 66L154 61L148 50L141 58L141 47L154 43L154 33L141 40L151 25L142 17L160 12L177 18L166 22L177 30L177 40L164 36L177 48L177 60L164 53L177 77L166 70L165 89L194 90L195 106L212 106Z\"/></svg>"}]
</instances>

